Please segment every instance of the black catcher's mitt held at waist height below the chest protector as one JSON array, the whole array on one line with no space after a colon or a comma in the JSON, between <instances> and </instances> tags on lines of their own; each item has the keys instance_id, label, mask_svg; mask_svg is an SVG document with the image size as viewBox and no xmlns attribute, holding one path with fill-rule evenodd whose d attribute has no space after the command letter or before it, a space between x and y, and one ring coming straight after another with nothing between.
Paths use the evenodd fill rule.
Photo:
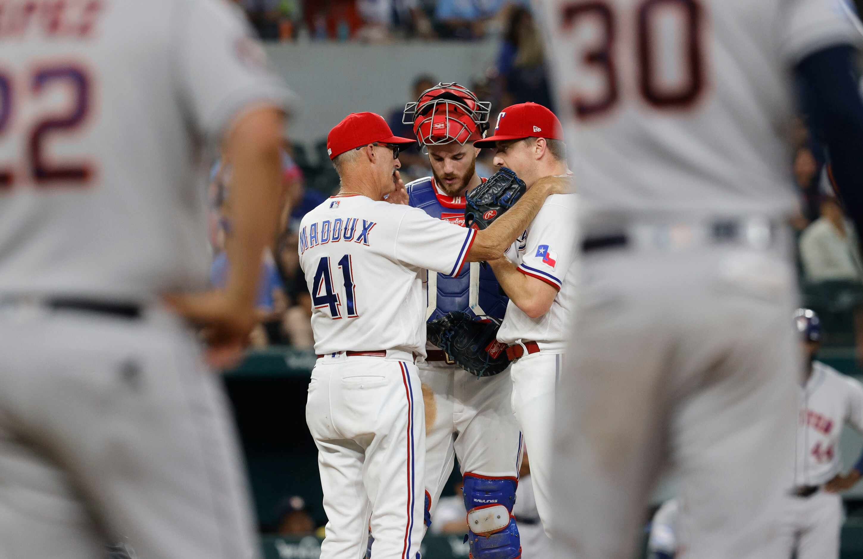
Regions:
<instances>
[{"instance_id":1,"label":"black catcher's mitt held at waist height below the chest protector","mask_svg":"<svg viewBox=\"0 0 863 559\"><path fill-rule=\"evenodd\" d=\"M468 373L488 377L509 366L507 344L495 339L500 328L501 322L494 317L456 311L428 323L426 337Z\"/></svg>"}]
</instances>

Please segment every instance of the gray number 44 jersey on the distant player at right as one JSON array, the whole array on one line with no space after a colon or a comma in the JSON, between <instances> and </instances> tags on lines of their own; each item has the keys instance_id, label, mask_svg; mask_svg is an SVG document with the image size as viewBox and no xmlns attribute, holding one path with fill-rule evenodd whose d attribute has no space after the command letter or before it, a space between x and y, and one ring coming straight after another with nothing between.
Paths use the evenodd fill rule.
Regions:
<instances>
[{"instance_id":1,"label":"gray number 44 jersey on the distant player at right","mask_svg":"<svg viewBox=\"0 0 863 559\"><path fill-rule=\"evenodd\" d=\"M839 439L846 423L863 433L863 385L815 361L800 389L795 486L820 486L841 471Z\"/></svg>"}]
</instances>

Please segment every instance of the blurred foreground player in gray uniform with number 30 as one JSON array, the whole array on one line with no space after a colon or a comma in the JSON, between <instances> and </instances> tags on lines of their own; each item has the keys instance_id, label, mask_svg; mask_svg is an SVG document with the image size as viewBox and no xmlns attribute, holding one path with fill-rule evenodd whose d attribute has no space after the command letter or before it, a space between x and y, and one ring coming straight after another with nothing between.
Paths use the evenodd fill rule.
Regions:
<instances>
[{"instance_id":1,"label":"blurred foreground player in gray uniform with number 30","mask_svg":"<svg viewBox=\"0 0 863 559\"><path fill-rule=\"evenodd\" d=\"M582 241L552 537L566 557L631 559L673 462L685 556L782 557L791 78L858 208L855 22L839 0L543 4Z\"/></svg>"}]
</instances>

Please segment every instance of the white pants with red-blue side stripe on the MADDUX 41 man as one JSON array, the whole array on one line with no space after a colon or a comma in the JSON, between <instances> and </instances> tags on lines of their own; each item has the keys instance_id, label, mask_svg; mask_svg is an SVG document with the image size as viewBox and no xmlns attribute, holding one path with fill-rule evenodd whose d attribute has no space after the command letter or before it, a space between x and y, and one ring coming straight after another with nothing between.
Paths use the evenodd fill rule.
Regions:
<instances>
[{"instance_id":1,"label":"white pants with red-blue side stripe on the MADDUX 41 man","mask_svg":"<svg viewBox=\"0 0 863 559\"><path fill-rule=\"evenodd\" d=\"M425 407L413 356L318 358L306 422L327 514L321 559L414 559L422 542Z\"/></svg>"}]
</instances>

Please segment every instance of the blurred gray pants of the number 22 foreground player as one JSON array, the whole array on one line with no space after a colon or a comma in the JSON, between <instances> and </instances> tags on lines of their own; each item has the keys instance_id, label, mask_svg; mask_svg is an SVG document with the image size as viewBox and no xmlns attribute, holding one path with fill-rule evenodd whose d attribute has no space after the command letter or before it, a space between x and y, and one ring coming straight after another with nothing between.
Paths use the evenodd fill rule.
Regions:
<instances>
[{"instance_id":1,"label":"blurred gray pants of the number 22 foreground player","mask_svg":"<svg viewBox=\"0 0 863 559\"><path fill-rule=\"evenodd\" d=\"M258 556L218 378L180 320L0 308L0 556Z\"/></svg>"}]
</instances>

